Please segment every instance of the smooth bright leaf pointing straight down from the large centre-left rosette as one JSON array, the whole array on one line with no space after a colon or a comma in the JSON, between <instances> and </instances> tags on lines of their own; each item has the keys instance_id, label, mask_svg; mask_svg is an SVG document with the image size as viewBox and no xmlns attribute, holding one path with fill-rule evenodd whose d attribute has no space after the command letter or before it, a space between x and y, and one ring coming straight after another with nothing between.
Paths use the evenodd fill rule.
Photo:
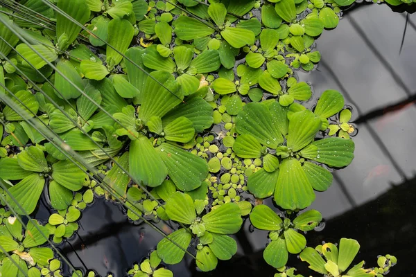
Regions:
<instances>
[{"instance_id":1,"label":"smooth bright leaf pointing straight down from the large centre-left rosette","mask_svg":"<svg viewBox=\"0 0 416 277\"><path fill-rule=\"evenodd\" d=\"M130 143L130 174L146 186L159 186L166 179L168 170L152 143L146 136Z\"/></svg>"}]
</instances>

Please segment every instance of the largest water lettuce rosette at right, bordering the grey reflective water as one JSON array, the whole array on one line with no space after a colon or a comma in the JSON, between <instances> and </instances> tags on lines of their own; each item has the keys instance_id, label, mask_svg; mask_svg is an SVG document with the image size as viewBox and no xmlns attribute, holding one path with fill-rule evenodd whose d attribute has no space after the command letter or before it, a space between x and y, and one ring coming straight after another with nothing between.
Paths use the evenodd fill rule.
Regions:
<instances>
[{"instance_id":1,"label":"largest water lettuce rosette at right, bordering the grey reflective water","mask_svg":"<svg viewBox=\"0 0 416 277\"><path fill-rule=\"evenodd\" d=\"M240 135L233 150L241 158L263 157L263 168L248 179L254 196L265 198L274 193L279 206L295 210L313 202L313 189L331 186L331 172L316 163L335 168L349 165L354 142L340 138L315 141L322 119L309 110L291 111L290 116L288 111L275 101L245 105L237 116Z\"/></svg>"}]
</instances>

